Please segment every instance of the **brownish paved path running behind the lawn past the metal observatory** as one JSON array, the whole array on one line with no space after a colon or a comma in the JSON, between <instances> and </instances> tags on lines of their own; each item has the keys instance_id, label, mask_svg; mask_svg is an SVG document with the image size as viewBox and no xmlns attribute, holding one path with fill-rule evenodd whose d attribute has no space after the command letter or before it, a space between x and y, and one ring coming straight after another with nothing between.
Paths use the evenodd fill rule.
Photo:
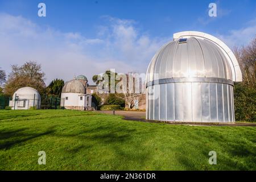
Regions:
<instances>
[{"instance_id":1,"label":"brownish paved path running behind the lawn past the metal observatory","mask_svg":"<svg viewBox=\"0 0 256 182\"><path fill-rule=\"evenodd\" d=\"M97 111L99 113L113 114L113 111ZM146 112L144 111L115 111L116 115L122 115L125 120L142 121L142 122L158 122L146 120ZM191 122L165 122L172 125L189 125L189 126L256 126L256 123L191 123Z\"/></svg>"}]
</instances>

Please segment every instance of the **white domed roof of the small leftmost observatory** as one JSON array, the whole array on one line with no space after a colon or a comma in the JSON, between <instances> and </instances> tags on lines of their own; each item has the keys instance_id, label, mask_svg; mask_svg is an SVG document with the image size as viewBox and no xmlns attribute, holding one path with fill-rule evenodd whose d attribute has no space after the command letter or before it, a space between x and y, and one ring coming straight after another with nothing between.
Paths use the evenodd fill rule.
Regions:
<instances>
[{"instance_id":1,"label":"white domed roof of the small leftmost observatory","mask_svg":"<svg viewBox=\"0 0 256 182\"><path fill-rule=\"evenodd\" d=\"M15 95L16 98L19 99L34 99L34 96L36 100L41 99L39 92L36 89L28 86L16 90L16 92L13 94L13 98L15 98Z\"/></svg>"}]
</instances>

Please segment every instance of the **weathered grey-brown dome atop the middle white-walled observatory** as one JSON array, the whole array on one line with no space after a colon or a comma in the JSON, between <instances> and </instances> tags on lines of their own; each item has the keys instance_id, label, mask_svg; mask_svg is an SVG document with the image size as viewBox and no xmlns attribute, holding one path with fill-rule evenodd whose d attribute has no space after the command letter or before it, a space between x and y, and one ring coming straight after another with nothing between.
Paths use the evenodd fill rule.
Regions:
<instances>
[{"instance_id":1,"label":"weathered grey-brown dome atop the middle white-walled observatory","mask_svg":"<svg viewBox=\"0 0 256 182\"><path fill-rule=\"evenodd\" d=\"M65 83L62 89L62 93L82 93L85 94L86 90L84 85L79 80L71 80Z\"/></svg>"}]
</instances>

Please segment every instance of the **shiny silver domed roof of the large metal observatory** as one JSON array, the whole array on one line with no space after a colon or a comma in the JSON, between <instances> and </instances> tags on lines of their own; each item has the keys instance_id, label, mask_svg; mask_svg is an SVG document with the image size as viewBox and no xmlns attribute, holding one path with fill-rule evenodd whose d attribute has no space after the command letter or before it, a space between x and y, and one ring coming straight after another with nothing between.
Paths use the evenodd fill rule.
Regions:
<instances>
[{"instance_id":1,"label":"shiny silver domed roof of the large metal observatory","mask_svg":"<svg viewBox=\"0 0 256 182\"><path fill-rule=\"evenodd\" d=\"M152 58L147 82L175 77L214 77L236 81L233 69L229 56L217 43L202 36L179 36L160 48Z\"/></svg>"}]
</instances>

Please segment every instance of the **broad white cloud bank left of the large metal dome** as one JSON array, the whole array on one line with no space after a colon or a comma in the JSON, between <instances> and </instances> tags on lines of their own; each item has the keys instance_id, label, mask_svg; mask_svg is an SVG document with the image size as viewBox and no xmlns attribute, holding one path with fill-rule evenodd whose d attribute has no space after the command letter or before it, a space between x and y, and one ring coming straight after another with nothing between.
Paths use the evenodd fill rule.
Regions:
<instances>
[{"instance_id":1,"label":"broad white cloud bank left of the large metal dome","mask_svg":"<svg viewBox=\"0 0 256 182\"><path fill-rule=\"evenodd\" d=\"M170 39L150 38L139 32L133 20L105 16L96 38L79 32L44 28L22 16L0 14L0 67L35 60L42 64L48 83L53 78L70 80L74 75L92 76L106 69L145 72L154 53Z\"/></svg>"}]
</instances>

